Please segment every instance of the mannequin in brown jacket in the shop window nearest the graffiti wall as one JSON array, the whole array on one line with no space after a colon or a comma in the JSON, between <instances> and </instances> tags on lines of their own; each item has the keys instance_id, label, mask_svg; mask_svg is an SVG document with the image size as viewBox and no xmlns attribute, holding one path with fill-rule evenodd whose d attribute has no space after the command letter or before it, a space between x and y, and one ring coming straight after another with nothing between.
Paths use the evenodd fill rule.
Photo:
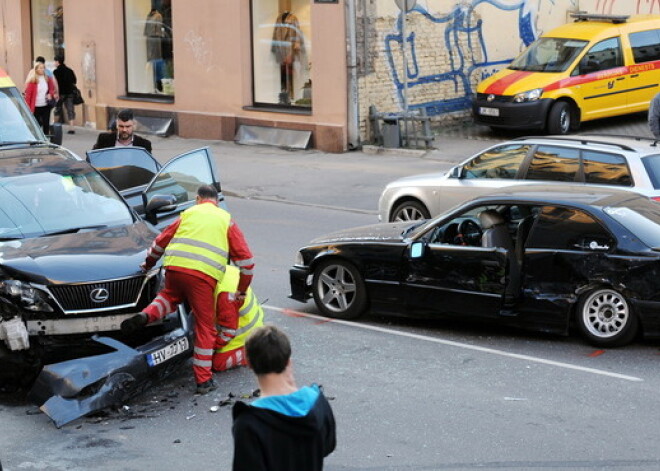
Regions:
<instances>
[{"instance_id":1,"label":"mannequin in brown jacket in the shop window nearest the graffiti wall","mask_svg":"<svg viewBox=\"0 0 660 471\"><path fill-rule=\"evenodd\" d=\"M271 52L280 65L280 104L288 105L293 97L293 64L304 52L304 39L298 18L286 10L278 15L273 31Z\"/></svg>"}]
</instances>

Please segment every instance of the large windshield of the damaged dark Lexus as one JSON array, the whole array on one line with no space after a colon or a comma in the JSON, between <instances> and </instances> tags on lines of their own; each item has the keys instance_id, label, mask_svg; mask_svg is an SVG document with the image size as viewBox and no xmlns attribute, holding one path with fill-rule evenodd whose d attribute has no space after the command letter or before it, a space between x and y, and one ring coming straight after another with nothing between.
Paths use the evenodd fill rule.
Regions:
<instances>
[{"instance_id":1,"label":"large windshield of the damaged dark Lexus","mask_svg":"<svg viewBox=\"0 0 660 471\"><path fill-rule=\"evenodd\" d=\"M2 160L0 240L131 224L126 203L86 162Z\"/></svg>"}]
</instances>

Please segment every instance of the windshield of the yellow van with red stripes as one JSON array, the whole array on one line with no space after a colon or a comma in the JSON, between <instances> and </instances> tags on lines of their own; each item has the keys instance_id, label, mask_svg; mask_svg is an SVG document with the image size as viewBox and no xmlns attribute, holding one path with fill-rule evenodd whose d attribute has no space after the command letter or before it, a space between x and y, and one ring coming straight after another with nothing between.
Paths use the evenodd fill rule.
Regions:
<instances>
[{"instance_id":1,"label":"windshield of the yellow van with red stripes","mask_svg":"<svg viewBox=\"0 0 660 471\"><path fill-rule=\"evenodd\" d=\"M539 38L509 65L511 70L563 72L587 45L567 38Z\"/></svg>"}]
</instances>

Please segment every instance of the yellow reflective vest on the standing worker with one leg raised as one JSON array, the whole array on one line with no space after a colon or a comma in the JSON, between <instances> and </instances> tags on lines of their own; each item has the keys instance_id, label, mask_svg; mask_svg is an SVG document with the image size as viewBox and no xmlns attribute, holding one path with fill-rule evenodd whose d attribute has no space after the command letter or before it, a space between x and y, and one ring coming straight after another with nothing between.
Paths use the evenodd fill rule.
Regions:
<instances>
[{"instance_id":1,"label":"yellow reflective vest on the standing worker with one leg raised","mask_svg":"<svg viewBox=\"0 0 660 471\"><path fill-rule=\"evenodd\" d=\"M181 223L165 249L164 266L197 270L221 281L229 260L231 216L211 203L181 213Z\"/></svg>"}]
</instances>

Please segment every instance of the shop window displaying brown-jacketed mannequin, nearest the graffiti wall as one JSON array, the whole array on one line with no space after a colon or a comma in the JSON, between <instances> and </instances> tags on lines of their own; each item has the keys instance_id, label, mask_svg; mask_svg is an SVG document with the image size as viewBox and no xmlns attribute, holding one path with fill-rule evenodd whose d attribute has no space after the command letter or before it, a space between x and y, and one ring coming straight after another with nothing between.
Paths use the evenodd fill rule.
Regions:
<instances>
[{"instance_id":1,"label":"shop window displaying brown-jacketed mannequin, nearest the graffiti wall","mask_svg":"<svg viewBox=\"0 0 660 471\"><path fill-rule=\"evenodd\" d=\"M254 104L312 106L309 0L252 0Z\"/></svg>"}]
</instances>

